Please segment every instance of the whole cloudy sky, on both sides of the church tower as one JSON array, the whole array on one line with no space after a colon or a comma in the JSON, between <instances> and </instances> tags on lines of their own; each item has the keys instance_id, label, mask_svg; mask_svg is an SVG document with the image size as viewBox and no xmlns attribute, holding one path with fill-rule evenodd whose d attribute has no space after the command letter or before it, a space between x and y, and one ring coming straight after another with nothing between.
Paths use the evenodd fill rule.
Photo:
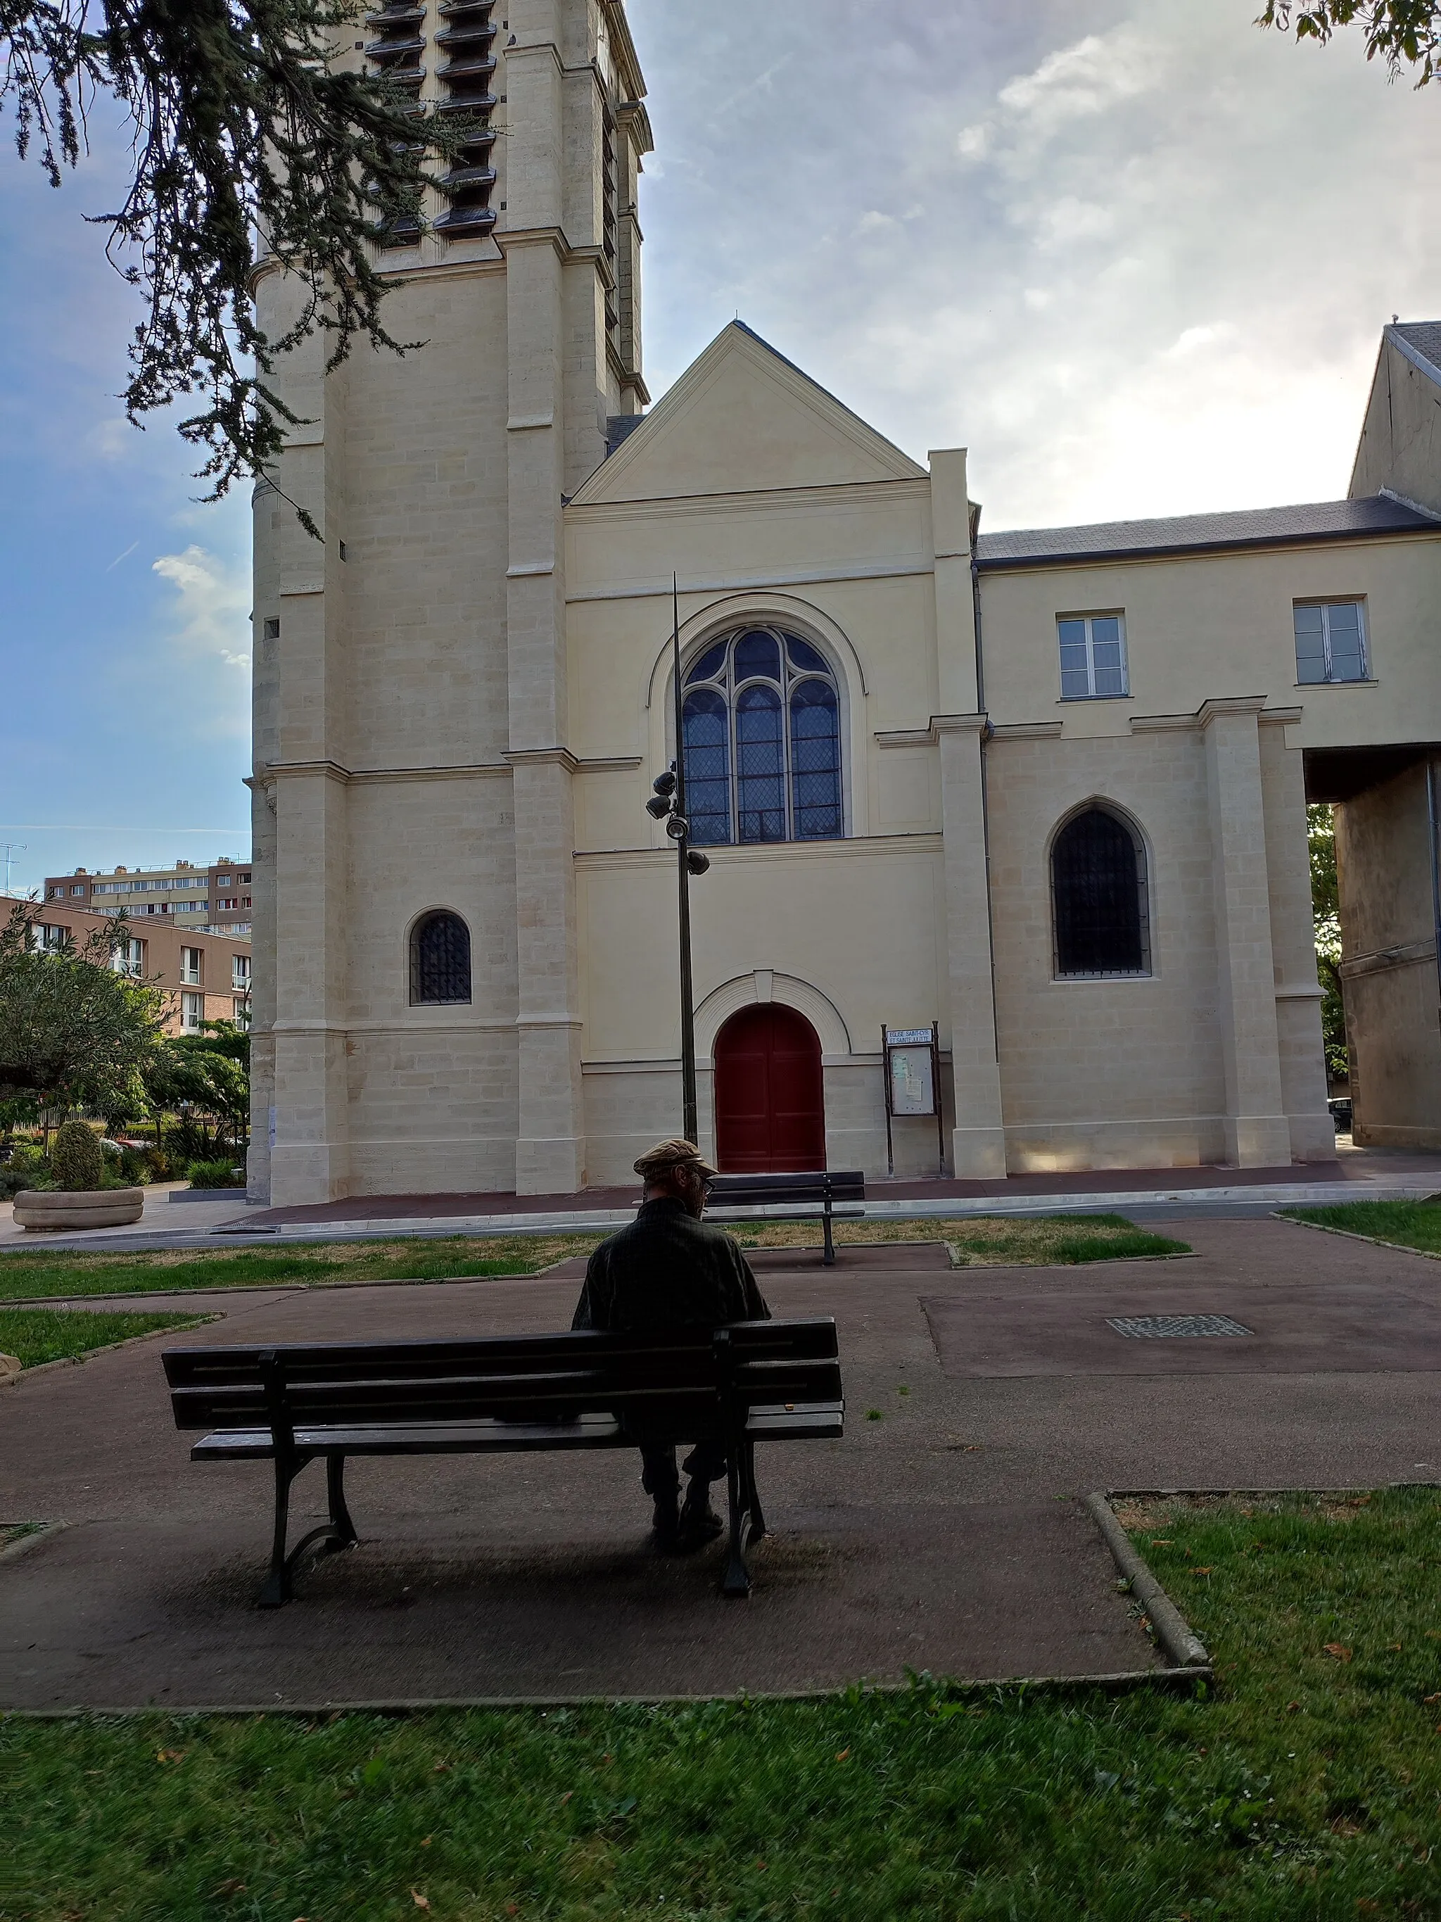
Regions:
<instances>
[{"instance_id":1,"label":"whole cloudy sky, on both sides of the church tower","mask_svg":"<svg viewBox=\"0 0 1441 1922\"><path fill-rule=\"evenodd\" d=\"M655 394L736 313L986 525L1345 492L1381 325L1441 317L1441 88L1258 0L630 0ZM0 152L13 884L246 846L248 507L119 415L129 296ZM0 846L0 884L4 848Z\"/></svg>"}]
</instances>

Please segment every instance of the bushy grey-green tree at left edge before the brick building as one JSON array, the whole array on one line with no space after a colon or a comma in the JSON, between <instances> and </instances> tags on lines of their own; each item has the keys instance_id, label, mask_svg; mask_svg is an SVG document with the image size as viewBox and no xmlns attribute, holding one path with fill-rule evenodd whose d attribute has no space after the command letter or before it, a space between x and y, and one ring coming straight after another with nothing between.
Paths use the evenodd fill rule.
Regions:
<instances>
[{"instance_id":1,"label":"bushy grey-green tree at left edge before the brick building","mask_svg":"<svg viewBox=\"0 0 1441 1922\"><path fill-rule=\"evenodd\" d=\"M106 1115L159 1047L165 996L117 973L123 915L83 948L65 932L42 949L37 928L29 901L0 928L0 1101Z\"/></svg>"}]
</instances>

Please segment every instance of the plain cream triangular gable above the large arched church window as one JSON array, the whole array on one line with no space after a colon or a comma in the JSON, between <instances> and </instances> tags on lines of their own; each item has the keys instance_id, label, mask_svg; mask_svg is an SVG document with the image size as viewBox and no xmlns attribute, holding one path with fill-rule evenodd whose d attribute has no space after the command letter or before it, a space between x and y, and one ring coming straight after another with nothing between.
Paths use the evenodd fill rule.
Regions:
<instances>
[{"instance_id":1,"label":"plain cream triangular gable above the large arched church window","mask_svg":"<svg viewBox=\"0 0 1441 1922\"><path fill-rule=\"evenodd\" d=\"M574 496L576 505L918 480L926 469L732 321Z\"/></svg>"}]
</instances>

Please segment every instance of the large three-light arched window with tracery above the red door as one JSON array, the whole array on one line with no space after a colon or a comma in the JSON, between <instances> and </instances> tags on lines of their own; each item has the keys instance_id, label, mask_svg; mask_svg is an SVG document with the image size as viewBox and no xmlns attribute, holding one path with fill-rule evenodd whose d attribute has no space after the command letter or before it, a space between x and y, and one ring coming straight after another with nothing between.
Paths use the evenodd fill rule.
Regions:
<instances>
[{"instance_id":1,"label":"large three-light arched window with tracery above the red door","mask_svg":"<svg viewBox=\"0 0 1441 1922\"><path fill-rule=\"evenodd\" d=\"M686 807L707 848L840 840L840 690L809 640L744 627L686 671Z\"/></svg>"}]
</instances>

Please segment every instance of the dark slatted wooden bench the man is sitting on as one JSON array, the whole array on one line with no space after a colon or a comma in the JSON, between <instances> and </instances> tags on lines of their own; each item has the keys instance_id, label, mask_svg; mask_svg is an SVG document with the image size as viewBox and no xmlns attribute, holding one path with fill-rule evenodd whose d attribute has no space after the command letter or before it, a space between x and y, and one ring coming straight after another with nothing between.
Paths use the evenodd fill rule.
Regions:
<instances>
[{"instance_id":1,"label":"dark slatted wooden bench the man is sitting on","mask_svg":"<svg viewBox=\"0 0 1441 1922\"><path fill-rule=\"evenodd\" d=\"M745 1595L745 1549L765 1534L755 1443L840 1438L836 1355L836 1322L813 1317L653 1334L173 1347L163 1363L175 1426L209 1430L192 1461L275 1463L275 1538L259 1605L277 1609L309 1549L334 1555L357 1540L348 1455L634 1447L624 1417L644 1417L647 1440L724 1442L730 1553L720 1588ZM330 1518L286 1549L290 1484L317 1459Z\"/></svg>"}]
</instances>

